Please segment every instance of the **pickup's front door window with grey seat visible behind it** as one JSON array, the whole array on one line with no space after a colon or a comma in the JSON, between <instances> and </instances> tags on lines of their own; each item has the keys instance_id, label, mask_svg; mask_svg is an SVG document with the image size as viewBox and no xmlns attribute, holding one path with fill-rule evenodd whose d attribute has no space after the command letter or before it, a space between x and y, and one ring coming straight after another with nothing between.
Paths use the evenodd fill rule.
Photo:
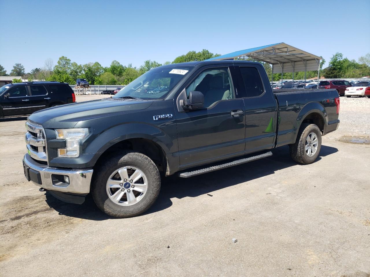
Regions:
<instances>
[{"instance_id":1,"label":"pickup's front door window with grey seat visible behind it","mask_svg":"<svg viewBox=\"0 0 370 277\"><path fill-rule=\"evenodd\" d=\"M205 108L208 108L219 100L235 98L227 67L206 69L201 72L186 88L186 95L188 97L191 91L203 93Z\"/></svg>"}]
</instances>

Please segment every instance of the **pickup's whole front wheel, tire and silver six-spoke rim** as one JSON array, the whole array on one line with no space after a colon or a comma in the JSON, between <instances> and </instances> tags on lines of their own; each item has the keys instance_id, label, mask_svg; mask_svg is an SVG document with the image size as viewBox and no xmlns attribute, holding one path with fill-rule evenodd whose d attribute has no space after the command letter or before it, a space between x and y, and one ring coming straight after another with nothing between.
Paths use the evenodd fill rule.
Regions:
<instances>
[{"instance_id":1,"label":"pickup's whole front wheel, tire and silver six-spoke rim","mask_svg":"<svg viewBox=\"0 0 370 277\"><path fill-rule=\"evenodd\" d=\"M94 175L92 198L103 212L117 218L147 211L161 188L157 166L149 157L137 152L108 158Z\"/></svg>"}]
</instances>

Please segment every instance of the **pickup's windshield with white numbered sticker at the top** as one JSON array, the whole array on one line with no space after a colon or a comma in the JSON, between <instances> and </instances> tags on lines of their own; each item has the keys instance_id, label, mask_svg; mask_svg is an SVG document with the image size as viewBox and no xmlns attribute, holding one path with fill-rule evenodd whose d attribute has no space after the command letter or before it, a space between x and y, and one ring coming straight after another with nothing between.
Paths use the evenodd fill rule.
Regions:
<instances>
[{"instance_id":1,"label":"pickup's windshield with white numbered sticker at the top","mask_svg":"<svg viewBox=\"0 0 370 277\"><path fill-rule=\"evenodd\" d=\"M164 99L193 66L155 68L135 79L113 98L132 96L141 99Z\"/></svg>"}]
</instances>

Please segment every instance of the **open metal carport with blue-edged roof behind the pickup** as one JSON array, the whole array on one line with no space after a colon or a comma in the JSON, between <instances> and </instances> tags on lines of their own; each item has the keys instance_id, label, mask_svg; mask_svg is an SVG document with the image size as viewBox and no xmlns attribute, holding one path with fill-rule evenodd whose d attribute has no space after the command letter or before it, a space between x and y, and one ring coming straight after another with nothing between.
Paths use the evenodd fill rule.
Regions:
<instances>
[{"instance_id":1,"label":"open metal carport with blue-edged roof behind the pickup","mask_svg":"<svg viewBox=\"0 0 370 277\"><path fill-rule=\"evenodd\" d=\"M306 71L317 70L317 80L320 76L320 59L319 56L310 54L284 42L249 48L225 54L219 57L208 59L207 61L221 61L233 59L254 59L256 61L267 62L272 67L273 73L281 73L283 79L284 72L304 71L306 80ZM271 84L272 78L271 76Z\"/></svg>"}]
</instances>

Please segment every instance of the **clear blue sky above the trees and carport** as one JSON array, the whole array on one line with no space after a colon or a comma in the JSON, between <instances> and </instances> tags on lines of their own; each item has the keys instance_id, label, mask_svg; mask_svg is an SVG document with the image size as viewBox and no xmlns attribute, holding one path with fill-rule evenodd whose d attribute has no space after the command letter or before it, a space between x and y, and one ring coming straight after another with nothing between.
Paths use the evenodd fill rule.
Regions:
<instances>
[{"instance_id":1,"label":"clear blue sky above the trees and carport","mask_svg":"<svg viewBox=\"0 0 370 277\"><path fill-rule=\"evenodd\" d=\"M369 0L0 0L0 64L26 72L62 55L78 64L140 66L190 50L229 52L285 42L326 61L370 52ZM319 34L318 34L319 32Z\"/></svg>"}]
</instances>

